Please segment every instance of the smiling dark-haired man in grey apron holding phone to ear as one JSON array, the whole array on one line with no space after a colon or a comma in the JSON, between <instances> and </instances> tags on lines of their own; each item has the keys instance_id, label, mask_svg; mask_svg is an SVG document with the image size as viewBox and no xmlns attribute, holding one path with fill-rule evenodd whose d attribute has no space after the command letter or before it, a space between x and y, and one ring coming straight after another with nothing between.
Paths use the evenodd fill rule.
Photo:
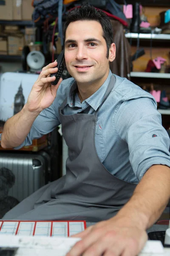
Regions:
<instances>
[{"instance_id":1,"label":"smiling dark-haired man in grey apron holding phone to ear","mask_svg":"<svg viewBox=\"0 0 170 256\"><path fill-rule=\"evenodd\" d=\"M75 9L64 36L73 78L52 86L57 63L44 67L22 111L6 122L1 145L29 145L61 123L67 174L4 219L100 221L77 235L68 256L136 256L170 198L169 137L153 97L111 74L116 47L103 12Z\"/></svg>"}]
</instances>

